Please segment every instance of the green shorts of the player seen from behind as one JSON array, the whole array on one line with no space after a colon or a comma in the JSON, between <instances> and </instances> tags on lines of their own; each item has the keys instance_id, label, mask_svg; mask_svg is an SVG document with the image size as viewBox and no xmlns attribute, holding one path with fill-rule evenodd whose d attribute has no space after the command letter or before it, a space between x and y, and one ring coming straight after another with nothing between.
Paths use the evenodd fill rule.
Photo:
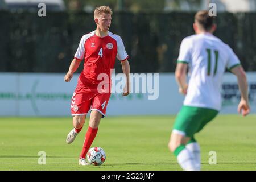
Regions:
<instances>
[{"instance_id":1,"label":"green shorts of the player seen from behind","mask_svg":"<svg viewBox=\"0 0 256 182\"><path fill-rule=\"evenodd\" d=\"M181 131L187 137L193 137L217 114L218 111L214 109L182 106L175 119L174 130Z\"/></svg>"}]
</instances>

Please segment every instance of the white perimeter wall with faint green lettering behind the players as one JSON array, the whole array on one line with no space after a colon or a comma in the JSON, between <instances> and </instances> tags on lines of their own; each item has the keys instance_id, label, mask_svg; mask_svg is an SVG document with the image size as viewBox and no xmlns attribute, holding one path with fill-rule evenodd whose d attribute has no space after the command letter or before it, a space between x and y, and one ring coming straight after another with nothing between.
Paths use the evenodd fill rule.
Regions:
<instances>
[{"instance_id":1,"label":"white perimeter wall with faint green lettering behind the players","mask_svg":"<svg viewBox=\"0 0 256 182\"><path fill-rule=\"evenodd\" d=\"M146 75L146 74L145 74ZM173 73L135 75L139 88L128 97L115 92L110 98L108 115L168 115L177 114L184 97L178 93ZM62 73L0 73L0 116L68 116L71 97L76 88L78 74L71 82L64 82ZM159 81L158 81L159 77ZM251 112L256 113L256 72L247 73ZM117 75L112 75L113 85L120 85ZM150 81L153 80L153 85ZM237 112L240 99L236 77L226 73L222 84L222 114ZM135 88L135 81L133 81ZM145 91L146 90L146 91ZM159 92L158 92L159 91ZM150 99L151 98L151 99ZM153 99L152 99L153 98ZM154 98L157 98L154 100Z\"/></svg>"}]
</instances>

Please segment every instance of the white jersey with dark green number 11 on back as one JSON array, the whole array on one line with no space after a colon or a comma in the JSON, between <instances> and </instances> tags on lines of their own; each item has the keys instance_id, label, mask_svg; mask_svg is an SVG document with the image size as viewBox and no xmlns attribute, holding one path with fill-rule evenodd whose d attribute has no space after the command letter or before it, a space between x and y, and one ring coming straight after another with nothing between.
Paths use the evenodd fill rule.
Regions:
<instances>
[{"instance_id":1,"label":"white jersey with dark green number 11 on back","mask_svg":"<svg viewBox=\"0 0 256 182\"><path fill-rule=\"evenodd\" d=\"M225 69L240 65L233 50L209 33L184 38L177 63L189 64L185 106L221 109L221 83Z\"/></svg>"}]
</instances>

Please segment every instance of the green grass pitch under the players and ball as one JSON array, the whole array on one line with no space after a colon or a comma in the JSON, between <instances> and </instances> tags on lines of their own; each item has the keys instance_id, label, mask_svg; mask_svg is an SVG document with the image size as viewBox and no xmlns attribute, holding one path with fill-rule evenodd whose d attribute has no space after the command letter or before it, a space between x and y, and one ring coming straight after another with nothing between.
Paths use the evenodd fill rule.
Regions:
<instances>
[{"instance_id":1,"label":"green grass pitch under the players and ball","mask_svg":"<svg viewBox=\"0 0 256 182\"><path fill-rule=\"evenodd\" d=\"M174 116L107 117L92 146L104 148L102 166L79 166L88 120L66 144L71 118L0 118L0 170L181 170L168 151ZM196 135L202 170L256 170L256 115L218 115ZM39 151L46 165L39 165ZM217 164L210 165L209 152Z\"/></svg>"}]
</instances>

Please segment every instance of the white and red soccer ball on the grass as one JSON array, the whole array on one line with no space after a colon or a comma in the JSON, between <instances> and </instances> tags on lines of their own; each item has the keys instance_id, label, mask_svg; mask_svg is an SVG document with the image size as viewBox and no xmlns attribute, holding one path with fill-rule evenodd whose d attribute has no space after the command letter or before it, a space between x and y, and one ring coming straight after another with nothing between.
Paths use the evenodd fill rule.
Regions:
<instances>
[{"instance_id":1,"label":"white and red soccer ball on the grass","mask_svg":"<svg viewBox=\"0 0 256 182\"><path fill-rule=\"evenodd\" d=\"M106 160L106 154L101 147L93 147L87 152L86 158L90 164L100 166Z\"/></svg>"}]
</instances>

